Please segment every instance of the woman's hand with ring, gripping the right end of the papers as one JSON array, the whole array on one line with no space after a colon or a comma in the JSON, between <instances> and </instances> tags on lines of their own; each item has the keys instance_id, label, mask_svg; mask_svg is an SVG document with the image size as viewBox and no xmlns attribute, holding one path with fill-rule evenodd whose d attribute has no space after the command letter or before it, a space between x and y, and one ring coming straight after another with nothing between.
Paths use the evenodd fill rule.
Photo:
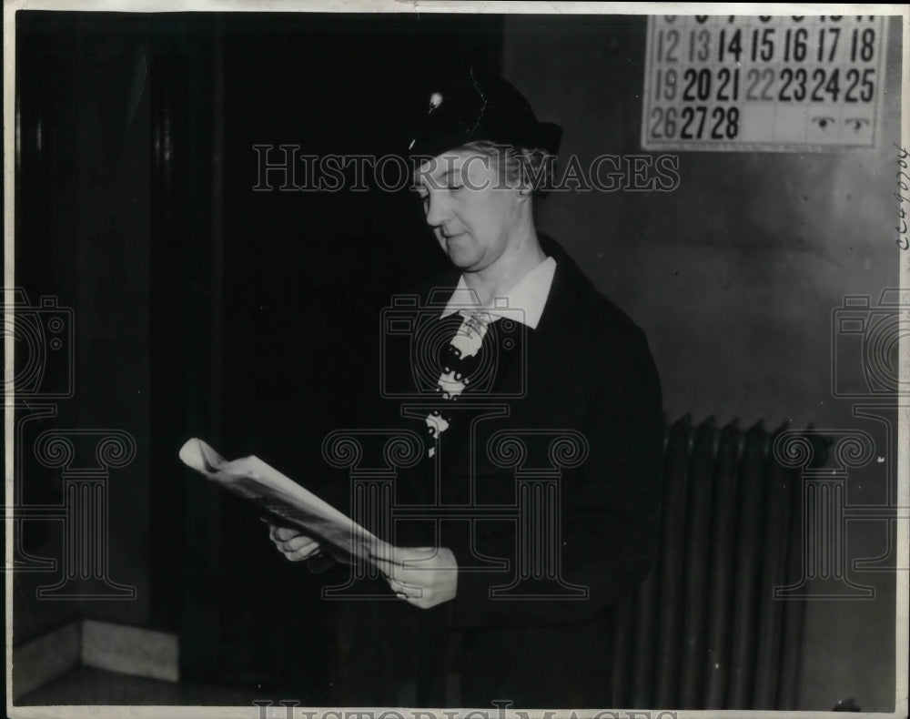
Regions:
<instances>
[{"instance_id":1,"label":"woman's hand with ring, gripping the right end of the papers","mask_svg":"<svg viewBox=\"0 0 910 719\"><path fill-rule=\"evenodd\" d=\"M409 604L430 609L455 599L458 562L446 547L390 547L390 554L373 556L392 591Z\"/></svg>"}]
</instances>

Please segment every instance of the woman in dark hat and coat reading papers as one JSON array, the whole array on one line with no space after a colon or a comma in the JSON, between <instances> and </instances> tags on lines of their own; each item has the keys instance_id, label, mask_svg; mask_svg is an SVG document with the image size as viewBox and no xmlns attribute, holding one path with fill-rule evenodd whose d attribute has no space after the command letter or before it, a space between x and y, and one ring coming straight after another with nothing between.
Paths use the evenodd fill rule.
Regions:
<instances>
[{"instance_id":1,"label":"woman in dark hat and coat reading papers","mask_svg":"<svg viewBox=\"0 0 910 719\"><path fill-rule=\"evenodd\" d=\"M383 421L427 438L396 506L445 509L387 538L397 603L342 610L344 704L609 704L605 610L656 548L661 390L642 331L535 227L560 136L513 86L471 78L430 96L410 143L452 272L428 288L450 288L424 306L431 351L383 358L439 379ZM319 552L271 538L289 560Z\"/></svg>"}]
</instances>

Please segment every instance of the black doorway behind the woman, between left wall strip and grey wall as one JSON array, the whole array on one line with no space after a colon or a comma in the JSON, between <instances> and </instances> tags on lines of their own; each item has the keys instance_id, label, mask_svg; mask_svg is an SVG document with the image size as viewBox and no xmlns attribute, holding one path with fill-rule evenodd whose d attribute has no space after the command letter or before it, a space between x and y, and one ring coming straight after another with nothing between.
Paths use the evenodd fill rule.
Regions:
<instances>
[{"instance_id":1,"label":"black doorway behind the woman, between left wall strip and grey wall","mask_svg":"<svg viewBox=\"0 0 910 719\"><path fill-rule=\"evenodd\" d=\"M353 165L338 191L287 186L327 155L403 154L434 83L499 69L501 17L208 15L157 37L154 367L181 388L159 397L159 436L168 452L182 433L255 453L319 491L323 436L377 376L379 307L442 256L392 161L385 189L369 172L351 189ZM281 145L303 174L261 176ZM248 507L179 472L165 482L153 582L183 676L325 704L318 584Z\"/></svg>"}]
</instances>

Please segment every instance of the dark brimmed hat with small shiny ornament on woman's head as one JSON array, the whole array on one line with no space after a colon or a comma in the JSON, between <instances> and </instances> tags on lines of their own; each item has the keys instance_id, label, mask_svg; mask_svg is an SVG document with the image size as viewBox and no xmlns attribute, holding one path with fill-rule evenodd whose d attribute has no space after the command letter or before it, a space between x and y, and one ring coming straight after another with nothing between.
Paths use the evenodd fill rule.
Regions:
<instances>
[{"instance_id":1,"label":"dark brimmed hat with small shiny ornament on woman's head","mask_svg":"<svg viewBox=\"0 0 910 719\"><path fill-rule=\"evenodd\" d=\"M431 93L411 137L411 155L435 157L476 140L555 155L562 128L538 122L528 101L505 80L471 77Z\"/></svg>"}]
</instances>

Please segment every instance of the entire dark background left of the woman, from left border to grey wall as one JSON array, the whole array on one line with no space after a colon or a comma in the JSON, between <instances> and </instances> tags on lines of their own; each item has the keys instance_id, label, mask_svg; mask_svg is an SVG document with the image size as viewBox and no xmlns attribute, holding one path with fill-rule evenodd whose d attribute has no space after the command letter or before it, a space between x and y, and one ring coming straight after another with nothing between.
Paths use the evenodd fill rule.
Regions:
<instances>
[{"instance_id":1,"label":"entire dark background left of the woman, from left border to grey wall","mask_svg":"<svg viewBox=\"0 0 910 719\"><path fill-rule=\"evenodd\" d=\"M274 146L270 162L283 143L402 154L440 82L466 66L499 71L501 17L17 20L33 136L16 194L17 285L76 305L82 348L83 328L96 334L76 351L76 407L45 425L66 424L66 410L90 425L116 403L141 418L131 469L151 478L111 500L112 533L130 534L147 563L138 606L87 613L107 604L179 632L187 680L326 704L325 603L247 508L187 475L177 449L200 436L319 489L322 437L351 423L374 380L383 298L444 257L407 190L252 191L253 145ZM103 398L82 390L92 377ZM46 485L59 480L46 473L26 501L52 501L59 486ZM30 546L45 532L30 523ZM73 607L49 611L59 620ZM39 628L25 623L17 639Z\"/></svg>"}]
</instances>

